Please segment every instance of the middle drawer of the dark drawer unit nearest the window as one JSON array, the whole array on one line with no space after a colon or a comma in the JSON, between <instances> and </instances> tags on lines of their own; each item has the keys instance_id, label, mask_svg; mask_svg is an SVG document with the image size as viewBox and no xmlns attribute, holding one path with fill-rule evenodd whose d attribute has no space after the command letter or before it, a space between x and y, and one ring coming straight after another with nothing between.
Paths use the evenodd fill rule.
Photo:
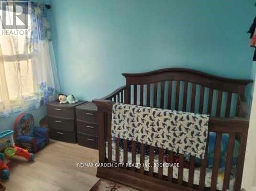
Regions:
<instances>
[{"instance_id":1,"label":"middle drawer of the dark drawer unit nearest the window","mask_svg":"<svg viewBox=\"0 0 256 191\"><path fill-rule=\"evenodd\" d=\"M67 120L64 118L55 118L48 116L49 128L62 130L62 131L74 131L74 120Z\"/></svg>"}]
</instances>

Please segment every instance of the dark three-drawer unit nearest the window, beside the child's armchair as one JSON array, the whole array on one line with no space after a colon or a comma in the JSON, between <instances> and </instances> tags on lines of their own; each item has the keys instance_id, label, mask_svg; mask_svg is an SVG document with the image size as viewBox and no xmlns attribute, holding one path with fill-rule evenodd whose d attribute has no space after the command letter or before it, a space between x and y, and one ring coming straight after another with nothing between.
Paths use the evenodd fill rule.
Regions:
<instances>
[{"instance_id":1,"label":"dark three-drawer unit nearest the window, beside the child's armchair","mask_svg":"<svg viewBox=\"0 0 256 191\"><path fill-rule=\"evenodd\" d=\"M50 138L76 143L76 110L75 107L85 103L60 104L58 101L47 104Z\"/></svg>"}]
</instances>

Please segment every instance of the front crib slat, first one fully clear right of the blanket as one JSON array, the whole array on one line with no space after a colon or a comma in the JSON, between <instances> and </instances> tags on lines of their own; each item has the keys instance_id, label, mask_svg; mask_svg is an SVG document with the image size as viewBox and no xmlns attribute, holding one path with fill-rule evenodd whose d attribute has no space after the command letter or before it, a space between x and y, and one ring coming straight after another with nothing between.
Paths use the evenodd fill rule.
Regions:
<instances>
[{"instance_id":1,"label":"front crib slat, first one fully clear right of the blanket","mask_svg":"<svg viewBox=\"0 0 256 191\"><path fill-rule=\"evenodd\" d=\"M214 151L214 166L212 167L210 190L216 190L219 163L220 163L220 153L221 153L221 132L217 132L217 136L215 140L215 151Z\"/></svg>"}]
</instances>

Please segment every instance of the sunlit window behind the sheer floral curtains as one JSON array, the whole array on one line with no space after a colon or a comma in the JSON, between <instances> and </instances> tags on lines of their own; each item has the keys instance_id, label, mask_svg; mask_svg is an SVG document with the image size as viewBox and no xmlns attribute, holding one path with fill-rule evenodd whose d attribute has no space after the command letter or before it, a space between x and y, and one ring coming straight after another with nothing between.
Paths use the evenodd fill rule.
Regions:
<instances>
[{"instance_id":1,"label":"sunlit window behind the sheer floral curtains","mask_svg":"<svg viewBox=\"0 0 256 191\"><path fill-rule=\"evenodd\" d=\"M12 14L12 11L6 11L7 23L11 23L10 18ZM28 15L28 20L30 20L30 15ZM24 97L33 97L34 95L32 64L34 55L31 52L30 46L31 23L28 23L26 33L19 33L17 29L8 31L9 33L1 33L0 44L4 59L5 80L9 100L10 102L15 102ZM0 93L0 102L1 101Z\"/></svg>"}]
</instances>

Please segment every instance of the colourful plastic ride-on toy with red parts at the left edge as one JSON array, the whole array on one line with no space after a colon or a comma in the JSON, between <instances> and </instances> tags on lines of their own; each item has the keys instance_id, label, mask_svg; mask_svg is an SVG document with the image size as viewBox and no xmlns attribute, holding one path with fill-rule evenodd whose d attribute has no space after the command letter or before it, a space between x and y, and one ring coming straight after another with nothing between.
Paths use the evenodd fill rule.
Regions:
<instances>
[{"instance_id":1,"label":"colourful plastic ride-on toy with red parts at the left edge","mask_svg":"<svg viewBox=\"0 0 256 191\"><path fill-rule=\"evenodd\" d=\"M28 150L17 147L13 140L13 131L3 131L0 133L0 176L1 178L9 178L9 168L5 163L5 157L11 158L14 155L22 156L28 161L34 160L34 154Z\"/></svg>"}]
</instances>

